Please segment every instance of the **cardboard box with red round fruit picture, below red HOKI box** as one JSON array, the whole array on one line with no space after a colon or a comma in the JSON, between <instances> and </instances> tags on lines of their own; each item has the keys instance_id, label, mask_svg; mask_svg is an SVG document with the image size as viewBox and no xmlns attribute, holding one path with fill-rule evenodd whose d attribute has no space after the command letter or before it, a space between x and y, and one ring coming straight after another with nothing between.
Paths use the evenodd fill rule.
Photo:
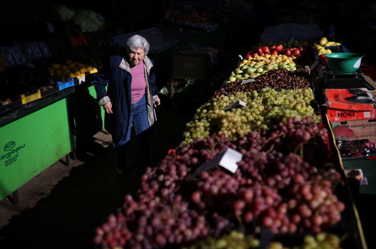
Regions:
<instances>
[{"instance_id":1,"label":"cardboard box with red round fruit picture, below red HOKI box","mask_svg":"<svg viewBox=\"0 0 376 249\"><path fill-rule=\"evenodd\" d=\"M336 140L376 142L376 119L330 122Z\"/></svg>"}]
</instances>

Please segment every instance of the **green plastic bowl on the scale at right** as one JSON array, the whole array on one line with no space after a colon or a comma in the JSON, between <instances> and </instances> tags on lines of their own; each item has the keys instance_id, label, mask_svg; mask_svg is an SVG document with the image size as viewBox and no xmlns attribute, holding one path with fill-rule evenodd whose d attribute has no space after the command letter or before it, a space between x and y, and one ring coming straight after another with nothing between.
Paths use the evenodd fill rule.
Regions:
<instances>
[{"instance_id":1,"label":"green plastic bowl on the scale at right","mask_svg":"<svg viewBox=\"0 0 376 249\"><path fill-rule=\"evenodd\" d=\"M330 70L337 74L352 74L359 69L363 54L333 53L325 54Z\"/></svg>"}]
</instances>

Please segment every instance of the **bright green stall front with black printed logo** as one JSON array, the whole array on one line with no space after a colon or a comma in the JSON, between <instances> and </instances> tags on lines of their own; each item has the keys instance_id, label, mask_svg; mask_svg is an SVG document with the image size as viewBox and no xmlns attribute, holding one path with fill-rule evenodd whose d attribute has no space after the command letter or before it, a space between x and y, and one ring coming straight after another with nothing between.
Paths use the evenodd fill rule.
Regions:
<instances>
[{"instance_id":1,"label":"bright green stall front with black printed logo","mask_svg":"<svg viewBox=\"0 0 376 249\"><path fill-rule=\"evenodd\" d=\"M74 149L70 133L67 99L74 92L50 99L41 99L34 107L13 116L0 118L0 197L13 193L17 202L17 189L53 165ZM36 100L38 102L38 100ZM35 102L34 102L35 103Z\"/></svg>"}]
</instances>

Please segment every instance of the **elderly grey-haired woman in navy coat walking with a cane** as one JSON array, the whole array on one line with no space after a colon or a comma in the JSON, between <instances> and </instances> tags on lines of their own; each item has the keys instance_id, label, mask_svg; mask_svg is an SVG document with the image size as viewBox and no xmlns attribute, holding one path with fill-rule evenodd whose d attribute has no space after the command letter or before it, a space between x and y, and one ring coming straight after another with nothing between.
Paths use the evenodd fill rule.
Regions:
<instances>
[{"instance_id":1,"label":"elderly grey-haired woman in navy coat walking with a cane","mask_svg":"<svg viewBox=\"0 0 376 249\"><path fill-rule=\"evenodd\" d=\"M154 62L147 57L148 51L149 42L144 37L130 37L127 54L111 56L93 81L98 103L105 110L105 128L112 135L115 167L120 174L128 167L126 150L134 127L138 153L133 172L136 177L142 176L148 166L149 128L154 123L153 108L160 104Z\"/></svg>"}]
</instances>

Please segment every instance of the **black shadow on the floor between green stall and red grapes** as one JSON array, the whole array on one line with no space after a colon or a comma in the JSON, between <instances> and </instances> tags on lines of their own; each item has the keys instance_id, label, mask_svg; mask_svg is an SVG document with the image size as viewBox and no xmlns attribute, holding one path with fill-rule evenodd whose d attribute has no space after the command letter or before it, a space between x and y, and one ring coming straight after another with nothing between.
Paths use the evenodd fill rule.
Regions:
<instances>
[{"instance_id":1,"label":"black shadow on the floor between green stall and red grapes","mask_svg":"<svg viewBox=\"0 0 376 249\"><path fill-rule=\"evenodd\" d=\"M139 182L111 167L112 147L88 142L86 148L92 159L72 168L34 208L13 216L0 231L0 248L92 248L96 227Z\"/></svg>"}]
</instances>

